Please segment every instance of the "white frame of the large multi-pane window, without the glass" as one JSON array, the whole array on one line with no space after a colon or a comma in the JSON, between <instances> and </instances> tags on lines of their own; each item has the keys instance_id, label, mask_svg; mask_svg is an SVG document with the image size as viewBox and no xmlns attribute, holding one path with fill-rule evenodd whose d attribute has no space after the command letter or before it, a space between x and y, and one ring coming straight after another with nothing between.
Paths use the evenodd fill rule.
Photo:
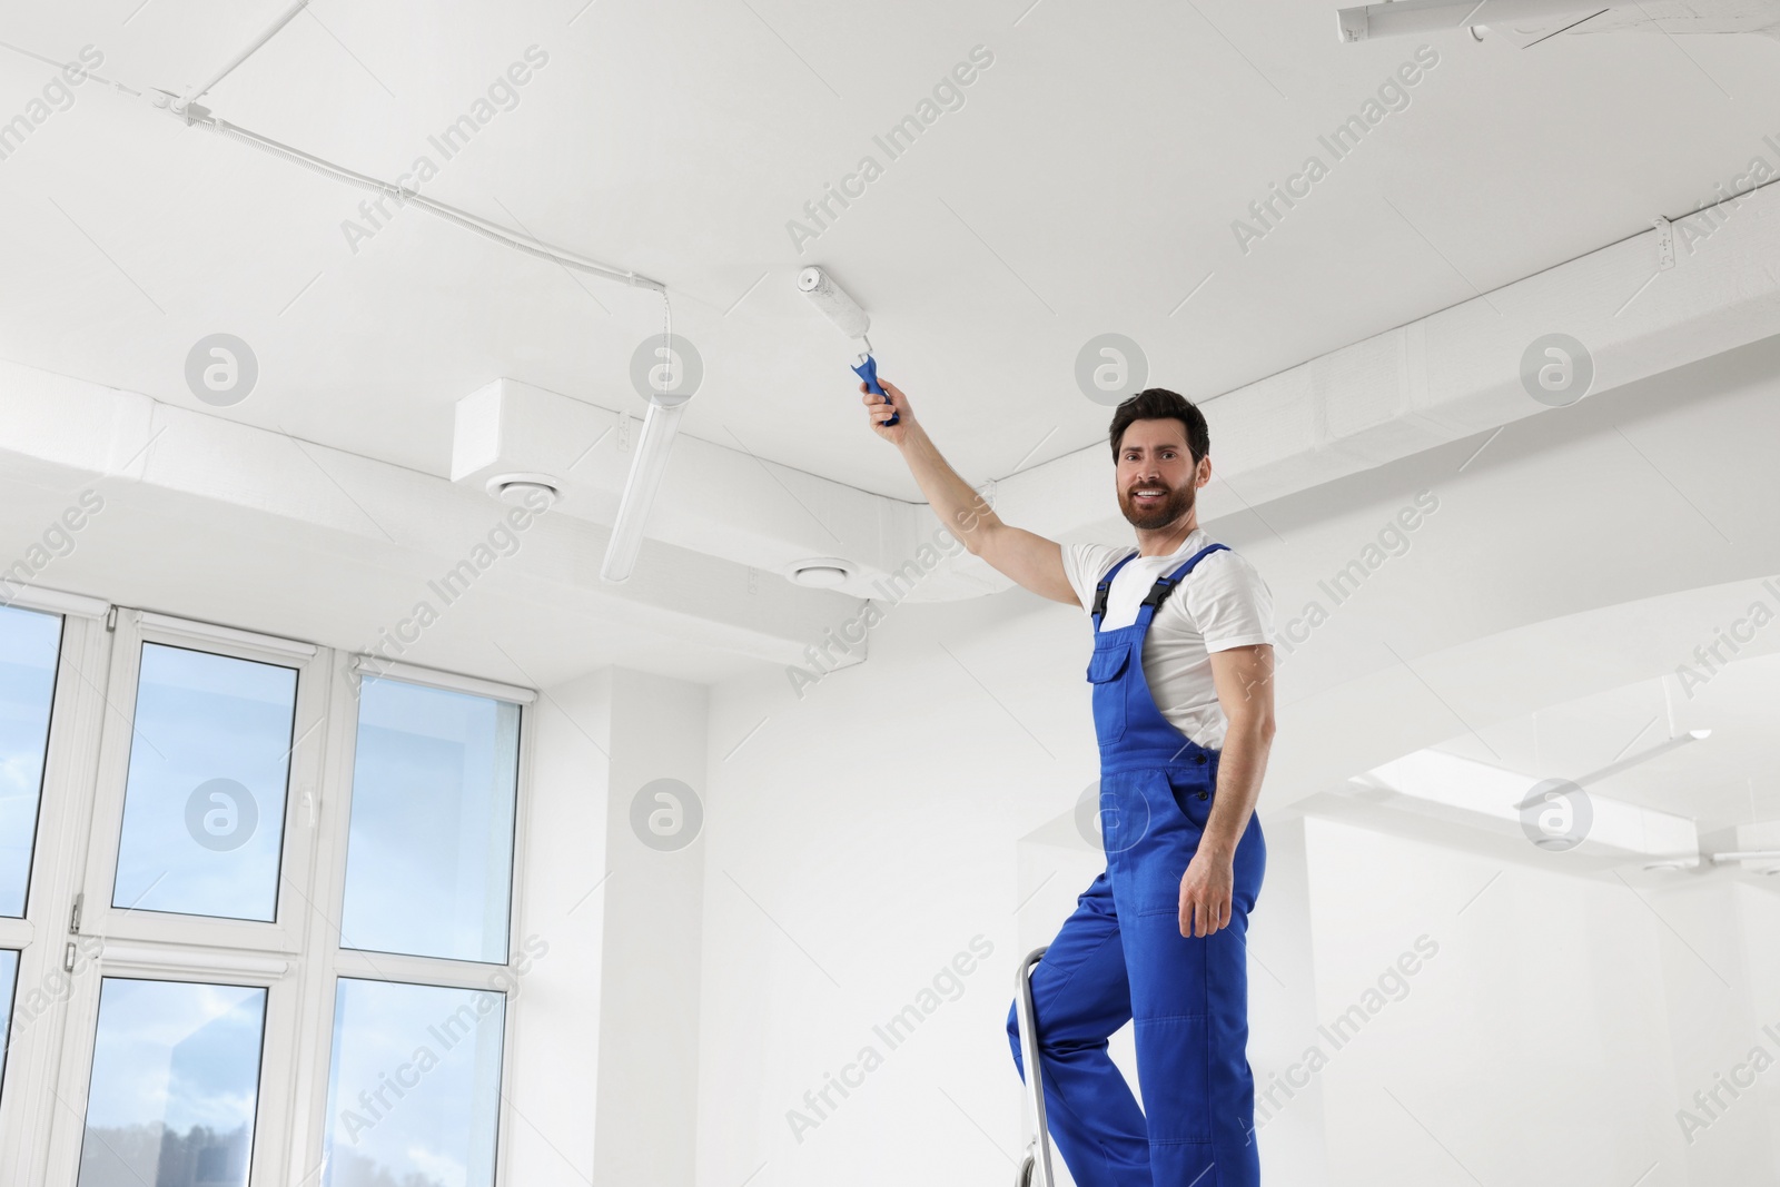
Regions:
<instances>
[{"instance_id":1,"label":"white frame of the large multi-pane window, without the glass","mask_svg":"<svg viewBox=\"0 0 1780 1187\"><path fill-rule=\"evenodd\" d=\"M80 972L69 979L66 998L44 1011L30 1025L28 1041L7 1057L0 1094L0 1180L75 1187L101 982L105 977L130 977L267 991L249 1183L315 1187L326 1134L338 979L493 993L504 993L495 984L498 973L507 973L507 986L514 981L511 970L529 934L520 863L530 822L530 707L536 694L231 626L112 610L91 598L59 598L64 600L55 602L53 610L64 614L62 648L27 918L0 920L0 947L20 949L21 989L39 984L69 952L77 956ZM39 609L23 596L16 603ZM295 746L285 801L276 922L110 906L144 642L297 669ZM388 680L520 705L504 965L340 949L361 667ZM69 922L77 892L82 913L78 934L73 934ZM507 1183L514 1125L513 1061L518 1050L516 995L504 997L497 1185Z\"/></svg>"}]
</instances>

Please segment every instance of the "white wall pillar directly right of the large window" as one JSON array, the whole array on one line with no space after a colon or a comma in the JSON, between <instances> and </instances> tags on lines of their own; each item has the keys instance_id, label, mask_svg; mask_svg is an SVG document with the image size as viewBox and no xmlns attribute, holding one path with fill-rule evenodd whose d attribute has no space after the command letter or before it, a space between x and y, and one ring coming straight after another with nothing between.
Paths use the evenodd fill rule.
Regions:
<instances>
[{"instance_id":1,"label":"white wall pillar directly right of the large window","mask_svg":"<svg viewBox=\"0 0 1780 1187\"><path fill-rule=\"evenodd\" d=\"M632 801L655 779L703 797L705 698L609 667L530 710L520 877L550 949L514 1004L511 1183L692 1182L705 842L643 844Z\"/></svg>"}]
</instances>

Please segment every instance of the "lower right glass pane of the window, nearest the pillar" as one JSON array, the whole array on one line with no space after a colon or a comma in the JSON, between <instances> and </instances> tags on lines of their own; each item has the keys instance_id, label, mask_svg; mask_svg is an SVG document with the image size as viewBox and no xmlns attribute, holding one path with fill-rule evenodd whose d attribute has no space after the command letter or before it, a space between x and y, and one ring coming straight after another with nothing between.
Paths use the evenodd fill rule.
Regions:
<instances>
[{"instance_id":1,"label":"lower right glass pane of the window, nearest the pillar","mask_svg":"<svg viewBox=\"0 0 1780 1187\"><path fill-rule=\"evenodd\" d=\"M342 977L320 1187L493 1187L506 1005Z\"/></svg>"}]
</instances>

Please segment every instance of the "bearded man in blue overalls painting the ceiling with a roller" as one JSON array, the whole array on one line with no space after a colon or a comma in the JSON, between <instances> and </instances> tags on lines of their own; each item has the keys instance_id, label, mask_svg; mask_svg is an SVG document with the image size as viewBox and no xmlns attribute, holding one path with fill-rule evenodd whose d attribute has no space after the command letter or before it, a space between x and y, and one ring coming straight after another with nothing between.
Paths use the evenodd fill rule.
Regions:
<instances>
[{"instance_id":1,"label":"bearded man in blue overalls painting the ceiling with a roller","mask_svg":"<svg viewBox=\"0 0 1780 1187\"><path fill-rule=\"evenodd\" d=\"M1032 972L1057 1150L1079 1187L1258 1183L1244 943L1267 861L1253 810L1274 730L1273 596L1198 525L1196 493L1212 475L1205 416L1162 388L1120 404L1114 480L1137 548L1064 548L1002 523L908 397L883 388L860 384L872 427L940 520L972 555L1095 625L1107 868ZM892 409L899 422L885 425ZM1132 1020L1141 1112L1107 1055ZM1018 1066L1013 1011L1007 1038Z\"/></svg>"}]
</instances>

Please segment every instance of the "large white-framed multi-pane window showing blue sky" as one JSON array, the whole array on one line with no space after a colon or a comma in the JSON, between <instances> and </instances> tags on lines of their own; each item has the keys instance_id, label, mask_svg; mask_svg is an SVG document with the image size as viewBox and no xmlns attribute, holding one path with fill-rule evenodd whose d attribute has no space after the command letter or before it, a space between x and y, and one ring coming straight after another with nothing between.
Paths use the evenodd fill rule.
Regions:
<instances>
[{"instance_id":1,"label":"large white-framed multi-pane window showing blue sky","mask_svg":"<svg viewBox=\"0 0 1780 1187\"><path fill-rule=\"evenodd\" d=\"M0 1182L498 1187L530 694L69 603L0 607Z\"/></svg>"}]
</instances>

